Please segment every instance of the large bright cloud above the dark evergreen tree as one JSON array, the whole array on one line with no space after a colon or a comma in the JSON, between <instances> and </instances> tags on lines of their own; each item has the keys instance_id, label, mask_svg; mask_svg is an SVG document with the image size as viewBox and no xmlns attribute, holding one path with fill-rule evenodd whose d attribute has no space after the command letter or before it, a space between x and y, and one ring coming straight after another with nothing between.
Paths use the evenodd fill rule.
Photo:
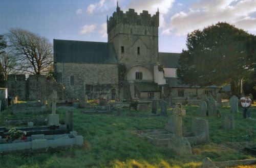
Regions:
<instances>
[{"instance_id":1,"label":"large bright cloud above the dark evergreen tree","mask_svg":"<svg viewBox=\"0 0 256 168\"><path fill-rule=\"evenodd\" d=\"M186 35L220 21L256 32L255 11L255 0L202 0L194 3L188 11L174 14L170 18L169 30L176 35Z\"/></svg>"}]
</instances>

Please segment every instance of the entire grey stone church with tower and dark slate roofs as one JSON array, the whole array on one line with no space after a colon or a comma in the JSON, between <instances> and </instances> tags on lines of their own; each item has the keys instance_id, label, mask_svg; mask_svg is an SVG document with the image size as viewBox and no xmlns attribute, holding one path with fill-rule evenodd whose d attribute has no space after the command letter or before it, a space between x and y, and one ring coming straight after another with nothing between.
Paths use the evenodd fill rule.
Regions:
<instances>
[{"instance_id":1,"label":"entire grey stone church with tower and dark slate roofs","mask_svg":"<svg viewBox=\"0 0 256 168\"><path fill-rule=\"evenodd\" d=\"M54 78L65 86L68 99L108 100L186 98L216 94L180 84L176 77L179 53L158 51L159 11L125 13L117 5L107 19L108 42L54 39Z\"/></svg>"}]
</instances>

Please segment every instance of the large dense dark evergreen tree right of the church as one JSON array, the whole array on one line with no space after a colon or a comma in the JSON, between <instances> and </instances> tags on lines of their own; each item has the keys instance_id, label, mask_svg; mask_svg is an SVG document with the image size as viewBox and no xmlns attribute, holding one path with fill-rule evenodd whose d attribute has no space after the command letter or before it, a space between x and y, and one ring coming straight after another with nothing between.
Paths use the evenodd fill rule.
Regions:
<instances>
[{"instance_id":1,"label":"large dense dark evergreen tree right of the church","mask_svg":"<svg viewBox=\"0 0 256 168\"><path fill-rule=\"evenodd\" d=\"M253 74L253 39L255 36L223 22L189 33L178 78L190 85L230 84L232 94L240 96L242 81Z\"/></svg>"}]
</instances>

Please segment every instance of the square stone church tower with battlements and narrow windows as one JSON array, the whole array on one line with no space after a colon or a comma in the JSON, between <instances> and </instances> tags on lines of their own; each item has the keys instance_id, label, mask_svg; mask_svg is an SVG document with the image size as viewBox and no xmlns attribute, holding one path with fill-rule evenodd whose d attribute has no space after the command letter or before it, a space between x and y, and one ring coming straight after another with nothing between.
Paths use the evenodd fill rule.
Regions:
<instances>
[{"instance_id":1,"label":"square stone church tower with battlements and narrow windows","mask_svg":"<svg viewBox=\"0 0 256 168\"><path fill-rule=\"evenodd\" d=\"M117 4L107 25L108 43L113 44L119 64L126 67L126 81L132 98L138 97L136 83L139 83L137 86L154 83L154 66L158 64L159 11L153 16L148 11L138 15L134 9L123 13Z\"/></svg>"}]
</instances>

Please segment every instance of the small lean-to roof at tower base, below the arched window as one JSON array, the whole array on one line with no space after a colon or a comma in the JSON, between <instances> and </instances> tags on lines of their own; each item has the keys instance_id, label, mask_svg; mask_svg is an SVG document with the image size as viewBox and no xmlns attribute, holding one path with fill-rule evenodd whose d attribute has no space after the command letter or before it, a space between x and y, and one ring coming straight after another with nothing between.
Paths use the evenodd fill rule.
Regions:
<instances>
[{"instance_id":1,"label":"small lean-to roof at tower base, below the arched window","mask_svg":"<svg viewBox=\"0 0 256 168\"><path fill-rule=\"evenodd\" d=\"M135 82L135 87L140 91L161 91L162 88L154 82Z\"/></svg>"}]
</instances>

